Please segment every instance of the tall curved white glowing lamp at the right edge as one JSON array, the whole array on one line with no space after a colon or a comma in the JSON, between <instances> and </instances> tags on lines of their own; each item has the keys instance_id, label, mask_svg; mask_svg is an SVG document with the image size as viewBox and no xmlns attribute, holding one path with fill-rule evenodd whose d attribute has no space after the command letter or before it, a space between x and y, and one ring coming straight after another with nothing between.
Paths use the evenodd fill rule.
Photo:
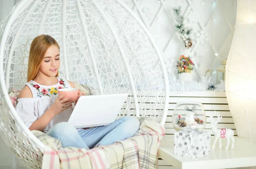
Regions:
<instances>
[{"instance_id":1,"label":"tall curved white glowing lamp at the right edge","mask_svg":"<svg viewBox=\"0 0 256 169\"><path fill-rule=\"evenodd\" d=\"M237 0L225 83L238 136L256 143L256 0Z\"/></svg>"}]
</instances>

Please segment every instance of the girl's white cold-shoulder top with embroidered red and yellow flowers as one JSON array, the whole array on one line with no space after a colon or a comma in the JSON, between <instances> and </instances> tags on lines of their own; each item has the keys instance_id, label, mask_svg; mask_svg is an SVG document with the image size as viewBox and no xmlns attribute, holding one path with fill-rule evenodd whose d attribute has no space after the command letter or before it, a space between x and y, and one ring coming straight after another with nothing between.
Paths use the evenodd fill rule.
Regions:
<instances>
[{"instance_id":1,"label":"girl's white cold-shoulder top with embroidered red and yellow flowers","mask_svg":"<svg viewBox=\"0 0 256 169\"><path fill-rule=\"evenodd\" d=\"M34 121L41 117L51 107L55 99L58 98L58 89L71 88L69 82L61 77L56 77L58 83L53 86L40 85L33 80L27 82L27 85L32 91L33 98L21 98L17 99L17 105L15 107L18 115L25 123L26 127L30 127ZM24 86L25 86L24 85ZM23 86L23 87L24 87ZM52 126L59 122L68 121L74 107L64 110L50 121L46 129L50 129Z\"/></svg>"}]
</instances>

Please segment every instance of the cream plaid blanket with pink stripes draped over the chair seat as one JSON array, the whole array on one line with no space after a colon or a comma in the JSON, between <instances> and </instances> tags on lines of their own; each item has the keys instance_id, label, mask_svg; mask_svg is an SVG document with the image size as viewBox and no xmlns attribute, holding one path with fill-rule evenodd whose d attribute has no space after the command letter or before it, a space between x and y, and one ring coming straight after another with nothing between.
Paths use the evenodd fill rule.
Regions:
<instances>
[{"instance_id":1,"label":"cream plaid blanket with pink stripes draped over the chair seat","mask_svg":"<svg viewBox=\"0 0 256 169\"><path fill-rule=\"evenodd\" d=\"M150 118L139 120L140 130L134 137L90 150L63 148L58 139L32 131L46 145L42 169L155 169L165 129Z\"/></svg>"}]
</instances>

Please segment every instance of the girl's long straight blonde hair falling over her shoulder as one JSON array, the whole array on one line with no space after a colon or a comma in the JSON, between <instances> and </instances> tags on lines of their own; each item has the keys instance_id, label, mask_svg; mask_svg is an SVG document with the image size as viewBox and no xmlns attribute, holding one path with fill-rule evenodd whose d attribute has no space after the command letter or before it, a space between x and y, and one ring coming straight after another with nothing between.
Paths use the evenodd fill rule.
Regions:
<instances>
[{"instance_id":1,"label":"girl's long straight blonde hair falling over her shoulder","mask_svg":"<svg viewBox=\"0 0 256 169\"><path fill-rule=\"evenodd\" d=\"M38 73L44 54L51 45L55 45L60 49L57 41L49 35L40 35L33 39L29 51L29 65L27 73L27 82L33 80ZM57 75L58 77L58 72Z\"/></svg>"}]
</instances>

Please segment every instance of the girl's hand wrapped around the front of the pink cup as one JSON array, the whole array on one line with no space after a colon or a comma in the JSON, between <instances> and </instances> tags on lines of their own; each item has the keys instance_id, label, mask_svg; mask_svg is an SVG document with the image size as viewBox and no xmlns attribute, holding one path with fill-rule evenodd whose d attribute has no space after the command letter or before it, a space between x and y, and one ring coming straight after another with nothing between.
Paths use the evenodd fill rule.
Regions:
<instances>
[{"instance_id":1,"label":"girl's hand wrapped around the front of the pink cup","mask_svg":"<svg viewBox=\"0 0 256 169\"><path fill-rule=\"evenodd\" d=\"M67 96L67 94L58 96L58 98L54 101L52 106L49 108L54 115L57 115L63 112L64 110L67 110L70 107L72 107L72 103L74 103L74 101L69 101L70 99L72 99L72 97L63 99L63 97L65 96ZM66 101L68 102L65 103Z\"/></svg>"}]
</instances>

